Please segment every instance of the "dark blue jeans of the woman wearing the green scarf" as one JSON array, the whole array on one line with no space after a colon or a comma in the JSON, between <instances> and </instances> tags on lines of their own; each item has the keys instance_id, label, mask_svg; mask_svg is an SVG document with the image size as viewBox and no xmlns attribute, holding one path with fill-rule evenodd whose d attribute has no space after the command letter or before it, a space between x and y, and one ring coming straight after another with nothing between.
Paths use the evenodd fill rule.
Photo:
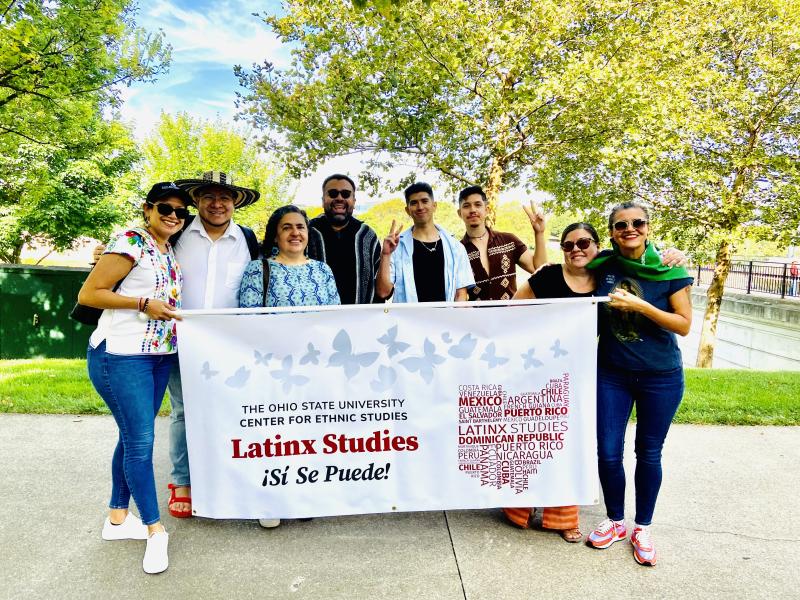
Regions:
<instances>
[{"instance_id":1,"label":"dark blue jeans of the woman wearing the green scarf","mask_svg":"<svg viewBox=\"0 0 800 600\"><path fill-rule=\"evenodd\" d=\"M597 463L609 519L625 517L625 427L636 404L636 523L649 525L661 487L661 449L683 398L683 369L597 369Z\"/></svg>"}]
</instances>

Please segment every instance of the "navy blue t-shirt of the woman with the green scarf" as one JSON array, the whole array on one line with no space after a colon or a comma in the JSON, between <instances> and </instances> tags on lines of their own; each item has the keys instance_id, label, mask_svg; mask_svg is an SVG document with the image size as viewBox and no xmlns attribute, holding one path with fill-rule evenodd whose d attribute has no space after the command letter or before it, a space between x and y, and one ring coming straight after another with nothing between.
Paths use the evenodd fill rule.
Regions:
<instances>
[{"instance_id":1,"label":"navy blue t-shirt of the woman with the green scarf","mask_svg":"<svg viewBox=\"0 0 800 600\"><path fill-rule=\"evenodd\" d=\"M607 296L621 287L667 312L671 311L669 297L694 281L692 277L671 281L637 279L626 275L613 261L609 263L596 272L598 296ZM627 371L672 371L683 364L675 334L639 313L616 310L601 302L598 330L600 366Z\"/></svg>"}]
</instances>

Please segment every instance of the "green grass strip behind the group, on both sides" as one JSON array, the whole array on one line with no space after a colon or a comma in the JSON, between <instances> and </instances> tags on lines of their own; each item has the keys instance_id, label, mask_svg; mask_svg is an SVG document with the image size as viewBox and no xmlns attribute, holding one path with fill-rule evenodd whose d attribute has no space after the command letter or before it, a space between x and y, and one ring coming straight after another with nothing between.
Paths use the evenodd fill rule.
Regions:
<instances>
[{"instance_id":1,"label":"green grass strip behind the group, on both sides","mask_svg":"<svg viewBox=\"0 0 800 600\"><path fill-rule=\"evenodd\" d=\"M800 425L800 372L686 370L677 423ZM85 360L0 361L0 412L109 414ZM164 400L160 414L169 414Z\"/></svg>"}]
</instances>

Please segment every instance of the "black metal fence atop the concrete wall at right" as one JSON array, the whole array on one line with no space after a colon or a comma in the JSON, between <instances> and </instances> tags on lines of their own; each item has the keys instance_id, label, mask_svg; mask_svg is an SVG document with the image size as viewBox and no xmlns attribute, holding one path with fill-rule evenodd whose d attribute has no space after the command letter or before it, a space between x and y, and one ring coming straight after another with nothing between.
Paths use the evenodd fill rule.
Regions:
<instances>
[{"instance_id":1,"label":"black metal fence atop the concrete wall at right","mask_svg":"<svg viewBox=\"0 0 800 600\"><path fill-rule=\"evenodd\" d=\"M714 276L714 265L691 267L695 283L709 285ZM785 263L734 261L725 282L725 289L743 290L745 293L774 294L781 298L800 296L800 277L792 275L792 267Z\"/></svg>"}]
</instances>

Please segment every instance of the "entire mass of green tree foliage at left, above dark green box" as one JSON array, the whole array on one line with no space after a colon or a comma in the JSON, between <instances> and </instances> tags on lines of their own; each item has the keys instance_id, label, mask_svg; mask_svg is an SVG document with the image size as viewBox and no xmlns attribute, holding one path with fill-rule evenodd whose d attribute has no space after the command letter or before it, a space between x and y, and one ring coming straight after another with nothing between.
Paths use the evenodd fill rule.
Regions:
<instances>
[{"instance_id":1,"label":"entire mass of green tree foliage at left, above dark green box","mask_svg":"<svg viewBox=\"0 0 800 600\"><path fill-rule=\"evenodd\" d=\"M0 259L25 243L64 250L129 214L138 153L114 120L121 86L166 69L163 34L129 0L0 6Z\"/></svg>"}]
</instances>

